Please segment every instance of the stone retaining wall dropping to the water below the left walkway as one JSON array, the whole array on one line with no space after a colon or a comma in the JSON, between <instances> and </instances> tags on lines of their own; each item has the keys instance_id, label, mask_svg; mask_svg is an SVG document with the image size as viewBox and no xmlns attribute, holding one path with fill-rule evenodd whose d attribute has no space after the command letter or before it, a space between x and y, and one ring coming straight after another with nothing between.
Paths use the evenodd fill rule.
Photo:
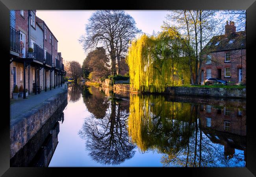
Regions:
<instances>
[{"instance_id":1,"label":"stone retaining wall dropping to the water below the left walkway","mask_svg":"<svg viewBox=\"0 0 256 177\"><path fill-rule=\"evenodd\" d=\"M67 102L67 90L10 121L10 158L32 138L56 110Z\"/></svg>"}]
</instances>

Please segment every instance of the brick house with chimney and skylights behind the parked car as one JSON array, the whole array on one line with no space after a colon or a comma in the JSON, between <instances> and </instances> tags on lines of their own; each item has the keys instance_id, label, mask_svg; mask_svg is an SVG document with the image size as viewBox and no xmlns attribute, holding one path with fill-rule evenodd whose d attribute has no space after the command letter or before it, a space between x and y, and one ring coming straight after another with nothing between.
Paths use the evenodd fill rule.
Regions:
<instances>
[{"instance_id":1,"label":"brick house with chimney and skylights behind the parked car","mask_svg":"<svg viewBox=\"0 0 256 177\"><path fill-rule=\"evenodd\" d=\"M230 85L246 84L246 31L236 31L234 22L226 21L225 34L212 37L202 52L201 83L216 77Z\"/></svg>"}]
</instances>

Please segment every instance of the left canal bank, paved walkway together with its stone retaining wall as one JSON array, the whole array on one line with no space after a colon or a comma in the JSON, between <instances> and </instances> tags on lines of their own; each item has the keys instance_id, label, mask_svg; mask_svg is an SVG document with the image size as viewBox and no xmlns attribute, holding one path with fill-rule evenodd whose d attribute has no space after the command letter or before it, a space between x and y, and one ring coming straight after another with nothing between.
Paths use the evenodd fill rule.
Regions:
<instances>
[{"instance_id":1,"label":"left canal bank, paved walkway together with its stone retaining wall","mask_svg":"<svg viewBox=\"0 0 256 177\"><path fill-rule=\"evenodd\" d=\"M32 138L63 104L67 90L56 88L10 105L10 158Z\"/></svg>"}]
</instances>

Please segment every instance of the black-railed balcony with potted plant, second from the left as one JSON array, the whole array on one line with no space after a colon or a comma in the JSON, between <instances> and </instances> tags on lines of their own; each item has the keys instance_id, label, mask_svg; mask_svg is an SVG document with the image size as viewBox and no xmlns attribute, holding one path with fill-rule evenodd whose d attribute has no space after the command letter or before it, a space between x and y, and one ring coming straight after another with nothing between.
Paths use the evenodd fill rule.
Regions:
<instances>
[{"instance_id":1,"label":"black-railed balcony with potted plant, second from the left","mask_svg":"<svg viewBox=\"0 0 256 177\"><path fill-rule=\"evenodd\" d=\"M32 58L41 63L44 62L45 54L43 48L39 47L35 43L20 42L20 57Z\"/></svg>"}]
</instances>

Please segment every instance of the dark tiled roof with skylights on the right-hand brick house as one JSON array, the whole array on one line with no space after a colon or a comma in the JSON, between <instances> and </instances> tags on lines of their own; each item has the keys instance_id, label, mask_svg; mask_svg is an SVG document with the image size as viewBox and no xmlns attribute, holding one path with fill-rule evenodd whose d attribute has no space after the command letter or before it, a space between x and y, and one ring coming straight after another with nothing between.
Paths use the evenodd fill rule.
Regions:
<instances>
[{"instance_id":1,"label":"dark tiled roof with skylights on the right-hand brick house","mask_svg":"<svg viewBox=\"0 0 256 177\"><path fill-rule=\"evenodd\" d=\"M232 42L233 41L233 42ZM219 42L218 45L215 45ZM229 43L230 42L230 43ZM238 31L230 35L213 36L204 46L204 52L221 52L246 48L246 31Z\"/></svg>"}]
</instances>

